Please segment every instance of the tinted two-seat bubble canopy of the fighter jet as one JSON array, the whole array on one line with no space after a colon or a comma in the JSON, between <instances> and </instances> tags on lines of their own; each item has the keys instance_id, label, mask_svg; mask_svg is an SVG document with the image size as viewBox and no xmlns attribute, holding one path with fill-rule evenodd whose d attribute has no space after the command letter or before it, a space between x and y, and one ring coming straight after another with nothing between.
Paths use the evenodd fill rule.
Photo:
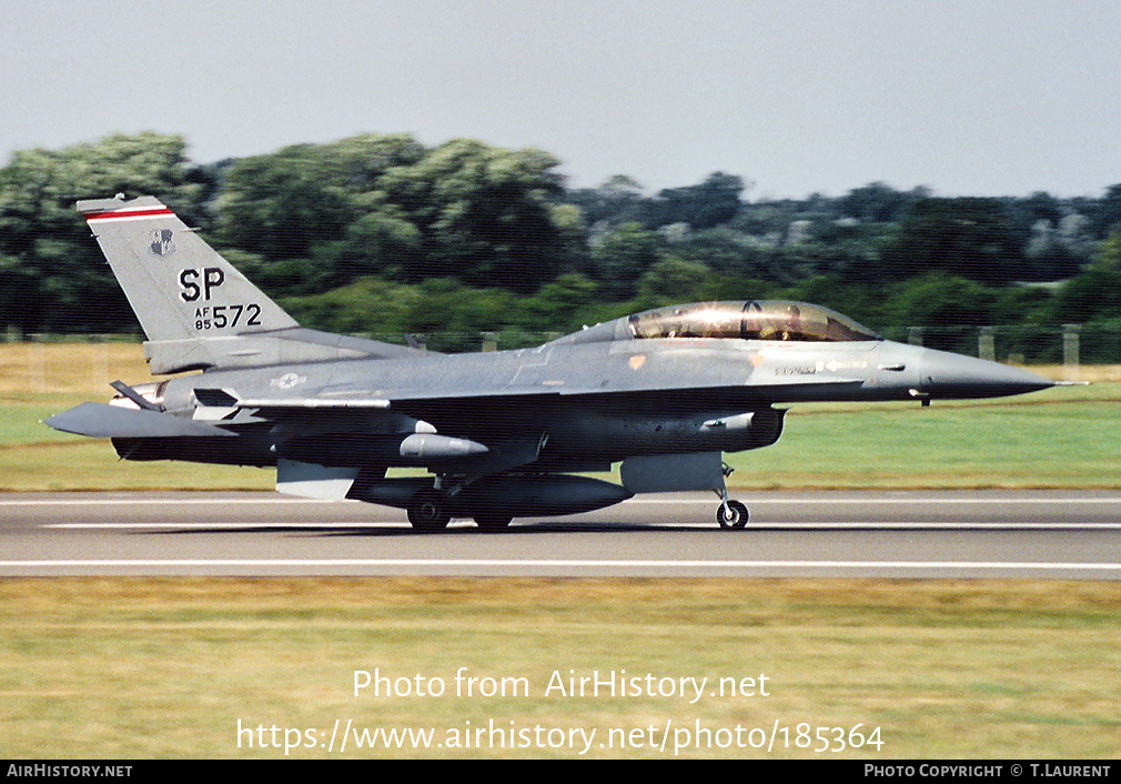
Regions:
<instances>
[{"instance_id":1,"label":"tinted two-seat bubble canopy of the fighter jet","mask_svg":"<svg viewBox=\"0 0 1121 784\"><path fill-rule=\"evenodd\" d=\"M821 305L785 299L673 305L623 320L630 336L846 342L882 340Z\"/></svg>"}]
</instances>

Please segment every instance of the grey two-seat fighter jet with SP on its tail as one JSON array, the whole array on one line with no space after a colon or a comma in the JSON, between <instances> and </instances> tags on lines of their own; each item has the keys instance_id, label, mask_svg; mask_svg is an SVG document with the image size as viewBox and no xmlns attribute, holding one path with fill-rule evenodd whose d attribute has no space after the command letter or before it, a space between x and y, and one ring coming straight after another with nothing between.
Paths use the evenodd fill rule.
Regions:
<instances>
[{"instance_id":1,"label":"grey two-seat fighter jet with SP on its tail","mask_svg":"<svg viewBox=\"0 0 1121 784\"><path fill-rule=\"evenodd\" d=\"M712 490L724 452L778 441L785 406L1016 395L1053 381L888 341L798 302L659 307L532 349L443 354L299 326L151 196L81 201L147 335L155 384L46 421L126 460L276 467L281 492L483 529L634 494ZM201 371L201 372L198 372ZM621 463L621 485L583 476ZM389 469L421 469L389 476ZM405 473L406 476L399 476Z\"/></svg>"}]
</instances>

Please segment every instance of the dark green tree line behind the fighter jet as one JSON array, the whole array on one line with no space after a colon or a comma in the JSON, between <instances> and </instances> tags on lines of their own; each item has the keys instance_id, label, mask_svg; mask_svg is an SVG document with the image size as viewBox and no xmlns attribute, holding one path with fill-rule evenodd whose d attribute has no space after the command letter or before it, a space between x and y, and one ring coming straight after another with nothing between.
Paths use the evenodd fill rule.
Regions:
<instances>
[{"instance_id":1,"label":"dark green tree line behind the fighter jet","mask_svg":"<svg viewBox=\"0 0 1121 784\"><path fill-rule=\"evenodd\" d=\"M722 172L655 194L624 175L569 188L548 153L462 139L359 136L203 165L186 150L141 133L13 154L0 324L136 330L74 211L124 193L159 196L306 326L435 334L441 348L738 298L816 302L880 329L1121 329L1121 184L992 199L871 183L751 201L752 184Z\"/></svg>"}]
</instances>

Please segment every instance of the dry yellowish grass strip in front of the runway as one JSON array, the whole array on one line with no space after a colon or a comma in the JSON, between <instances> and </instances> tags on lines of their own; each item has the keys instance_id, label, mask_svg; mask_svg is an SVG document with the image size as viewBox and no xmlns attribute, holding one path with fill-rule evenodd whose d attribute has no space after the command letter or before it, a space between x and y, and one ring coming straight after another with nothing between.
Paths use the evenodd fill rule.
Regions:
<instances>
[{"instance_id":1,"label":"dry yellowish grass strip in front of the runway","mask_svg":"<svg viewBox=\"0 0 1121 784\"><path fill-rule=\"evenodd\" d=\"M282 757L237 727L880 728L872 758L1101 758L1121 720L1121 585L1029 581L53 579L0 582L0 737L12 758ZM460 667L527 694L456 695ZM442 697L353 694L355 670ZM767 675L769 695L545 695L612 670ZM679 737L678 739L684 739ZM280 736L282 743L284 735ZM303 738L300 738L303 740ZM324 748L291 756L340 756ZM557 749L354 750L541 757ZM691 757L831 757L689 748Z\"/></svg>"}]
</instances>

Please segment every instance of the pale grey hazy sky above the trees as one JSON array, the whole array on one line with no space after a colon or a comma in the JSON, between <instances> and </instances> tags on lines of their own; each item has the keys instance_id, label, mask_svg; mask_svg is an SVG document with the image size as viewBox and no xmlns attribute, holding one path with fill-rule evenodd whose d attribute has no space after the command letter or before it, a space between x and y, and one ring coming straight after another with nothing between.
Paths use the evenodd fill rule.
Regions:
<instances>
[{"instance_id":1,"label":"pale grey hazy sky above the trees","mask_svg":"<svg viewBox=\"0 0 1121 784\"><path fill-rule=\"evenodd\" d=\"M0 0L0 162L147 129L198 163L409 132L651 192L1121 183L1119 0Z\"/></svg>"}]
</instances>

